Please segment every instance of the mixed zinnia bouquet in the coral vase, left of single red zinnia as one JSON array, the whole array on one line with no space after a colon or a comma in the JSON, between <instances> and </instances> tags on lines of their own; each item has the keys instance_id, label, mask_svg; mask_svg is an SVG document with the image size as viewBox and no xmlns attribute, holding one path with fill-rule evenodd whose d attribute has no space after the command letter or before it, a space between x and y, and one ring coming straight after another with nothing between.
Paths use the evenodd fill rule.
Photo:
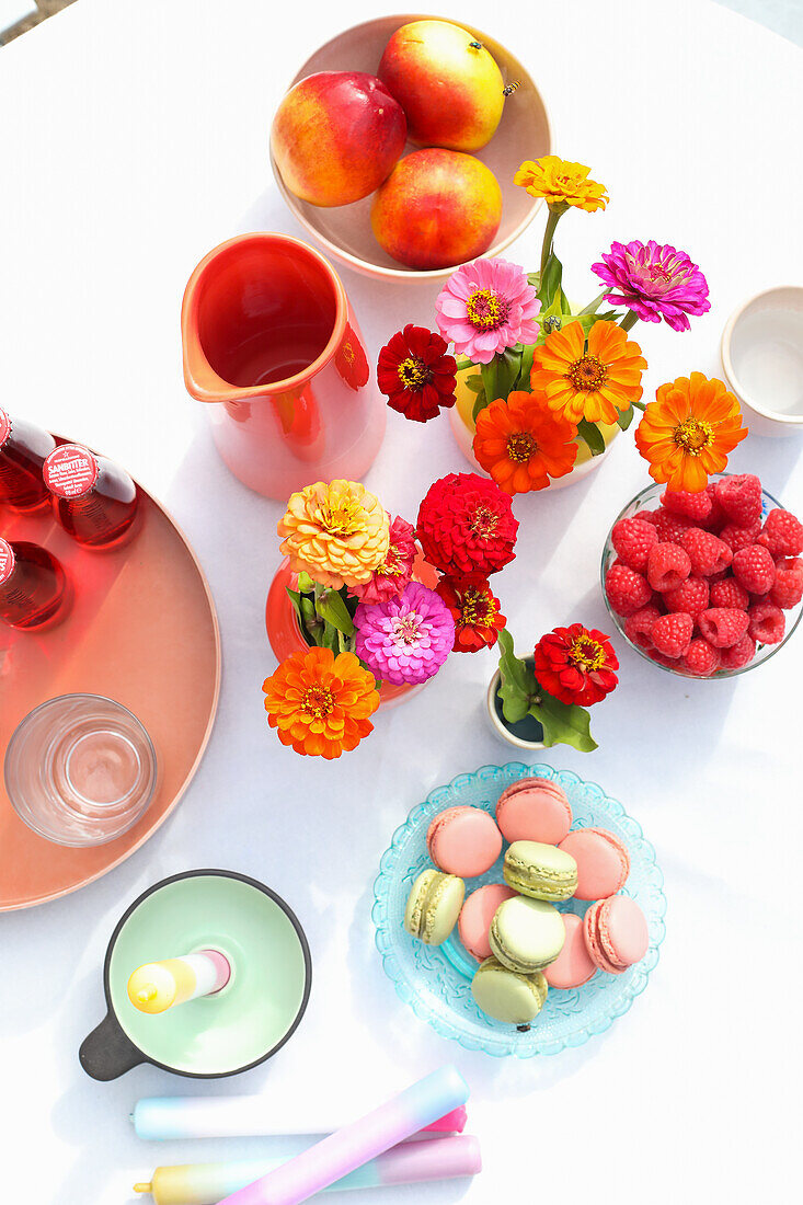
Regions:
<instances>
[{"instance_id":1,"label":"mixed zinnia bouquet in the coral vase, left of single red zinnia","mask_svg":"<svg viewBox=\"0 0 803 1205\"><path fill-rule=\"evenodd\" d=\"M371 731L382 682L423 683L451 652L493 645L505 619L488 578L514 559L517 530L510 498L475 474L436 481L415 529L353 481L293 494L279 535L309 647L263 684L280 741L340 757ZM436 571L435 589L415 580L417 558Z\"/></svg>"}]
</instances>

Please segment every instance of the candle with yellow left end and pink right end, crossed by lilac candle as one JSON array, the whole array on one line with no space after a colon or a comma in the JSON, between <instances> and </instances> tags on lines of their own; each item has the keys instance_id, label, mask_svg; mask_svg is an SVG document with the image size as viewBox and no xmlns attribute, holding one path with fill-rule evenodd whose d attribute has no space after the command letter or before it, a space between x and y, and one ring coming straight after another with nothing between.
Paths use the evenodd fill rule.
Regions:
<instances>
[{"instance_id":1,"label":"candle with yellow left end and pink right end, crossed by lilac candle","mask_svg":"<svg viewBox=\"0 0 803 1205\"><path fill-rule=\"evenodd\" d=\"M152 1193L154 1205L215 1205L227 1194L268 1175L282 1162L286 1160L251 1159L157 1168L151 1182L135 1185L134 1192ZM468 1134L429 1142L403 1142L338 1180L326 1192L457 1180L475 1176L481 1168L480 1144Z\"/></svg>"}]
</instances>

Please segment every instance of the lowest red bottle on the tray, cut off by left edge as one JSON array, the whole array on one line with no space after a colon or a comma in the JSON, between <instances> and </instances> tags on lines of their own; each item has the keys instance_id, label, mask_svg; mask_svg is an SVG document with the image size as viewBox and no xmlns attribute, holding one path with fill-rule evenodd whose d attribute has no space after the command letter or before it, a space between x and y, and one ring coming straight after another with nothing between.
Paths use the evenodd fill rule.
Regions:
<instances>
[{"instance_id":1,"label":"lowest red bottle on the tray, cut off by left edge","mask_svg":"<svg viewBox=\"0 0 803 1205\"><path fill-rule=\"evenodd\" d=\"M0 618L12 628L41 628L66 598L66 574L55 557L27 540L0 539Z\"/></svg>"}]
</instances>

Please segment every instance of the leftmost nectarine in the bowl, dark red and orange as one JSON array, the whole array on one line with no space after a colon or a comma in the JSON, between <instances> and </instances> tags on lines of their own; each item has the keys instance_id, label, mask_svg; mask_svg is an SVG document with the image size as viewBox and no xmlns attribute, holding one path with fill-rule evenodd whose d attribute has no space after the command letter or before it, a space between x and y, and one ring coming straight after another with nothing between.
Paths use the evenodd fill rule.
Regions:
<instances>
[{"instance_id":1,"label":"leftmost nectarine in the bowl, dark red and orange","mask_svg":"<svg viewBox=\"0 0 803 1205\"><path fill-rule=\"evenodd\" d=\"M348 205L387 178L404 149L402 106L364 71L318 71L276 110L270 147L291 193L311 205Z\"/></svg>"}]
</instances>

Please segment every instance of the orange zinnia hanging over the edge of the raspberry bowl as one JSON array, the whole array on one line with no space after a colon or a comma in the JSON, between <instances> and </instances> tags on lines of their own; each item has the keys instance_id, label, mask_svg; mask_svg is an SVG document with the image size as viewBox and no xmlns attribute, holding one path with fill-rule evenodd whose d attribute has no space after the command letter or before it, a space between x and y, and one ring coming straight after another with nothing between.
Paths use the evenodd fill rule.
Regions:
<instances>
[{"instance_id":1,"label":"orange zinnia hanging over the edge of the raspberry bowl","mask_svg":"<svg viewBox=\"0 0 803 1205\"><path fill-rule=\"evenodd\" d=\"M739 402L722 381L709 381L702 372L662 384L656 399L644 411L635 446L653 481L698 494L748 434Z\"/></svg>"}]
</instances>

